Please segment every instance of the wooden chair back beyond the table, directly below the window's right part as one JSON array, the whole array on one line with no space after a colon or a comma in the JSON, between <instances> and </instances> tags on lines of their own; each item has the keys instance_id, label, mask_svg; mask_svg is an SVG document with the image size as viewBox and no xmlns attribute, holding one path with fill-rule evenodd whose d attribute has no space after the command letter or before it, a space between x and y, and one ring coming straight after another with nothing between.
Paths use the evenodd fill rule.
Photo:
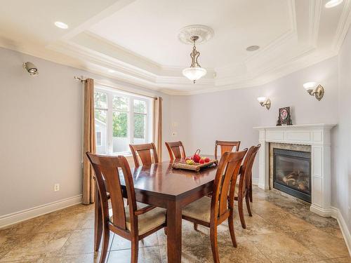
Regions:
<instances>
[{"instance_id":1,"label":"wooden chair back beyond the table, directly below the window's right part","mask_svg":"<svg viewBox=\"0 0 351 263\"><path fill-rule=\"evenodd\" d=\"M153 142L146 144L129 144L129 147L133 154L135 167L140 166L138 156L143 165L159 162L159 157L157 156L156 147Z\"/></svg>"}]
</instances>

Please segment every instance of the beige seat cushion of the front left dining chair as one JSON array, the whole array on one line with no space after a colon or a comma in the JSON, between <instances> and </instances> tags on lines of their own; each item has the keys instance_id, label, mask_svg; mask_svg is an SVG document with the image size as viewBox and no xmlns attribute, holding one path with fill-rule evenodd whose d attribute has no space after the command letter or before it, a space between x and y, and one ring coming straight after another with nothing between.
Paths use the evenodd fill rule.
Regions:
<instances>
[{"instance_id":1,"label":"beige seat cushion of the front left dining chair","mask_svg":"<svg viewBox=\"0 0 351 263\"><path fill-rule=\"evenodd\" d=\"M137 208L145 208L147 205L145 203L138 203ZM126 211L126 227L129 231L131 231L131 217L129 215L129 205L124 207ZM111 213L110 213L111 215ZM113 216L110 216L110 221L113 224ZM138 215L138 234L143 235L147 231L154 229L155 227L159 227L161 224L166 222L166 209L164 208L154 208L147 213L142 215Z\"/></svg>"}]
</instances>

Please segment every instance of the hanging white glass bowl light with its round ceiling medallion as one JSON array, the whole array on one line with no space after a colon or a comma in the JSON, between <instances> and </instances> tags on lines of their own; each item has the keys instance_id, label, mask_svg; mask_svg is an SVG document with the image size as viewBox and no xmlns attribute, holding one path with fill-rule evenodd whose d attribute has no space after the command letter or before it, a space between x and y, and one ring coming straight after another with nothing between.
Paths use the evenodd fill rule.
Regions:
<instances>
[{"instance_id":1,"label":"hanging white glass bowl light with its round ceiling medallion","mask_svg":"<svg viewBox=\"0 0 351 263\"><path fill-rule=\"evenodd\" d=\"M213 29L206 27L204 25L190 25L180 29L178 34L178 39L183 43L192 43L192 53L190 53L190 58L192 58L192 64L190 67L183 69L183 75L195 83L198 79L205 76L207 71L202 68L197 61L199 58L199 51L197 51L195 42L204 43L211 39L213 36Z\"/></svg>"}]
</instances>

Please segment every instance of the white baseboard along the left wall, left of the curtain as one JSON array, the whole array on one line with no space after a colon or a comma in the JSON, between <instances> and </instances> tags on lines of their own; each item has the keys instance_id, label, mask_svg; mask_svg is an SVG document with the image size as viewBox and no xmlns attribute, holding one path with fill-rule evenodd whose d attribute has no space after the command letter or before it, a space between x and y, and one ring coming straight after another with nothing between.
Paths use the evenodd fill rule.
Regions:
<instances>
[{"instance_id":1,"label":"white baseboard along the left wall, left of the curtain","mask_svg":"<svg viewBox=\"0 0 351 263\"><path fill-rule=\"evenodd\" d=\"M65 198L52 203L46 203L45 205L39 205L34 208L29 208L8 215L2 215L0 216L0 229L8 227L11 224L16 224L25 220L29 220L33 217L39 217L39 215L51 213L72 205L77 205L78 203L81 203L81 194L79 194L78 196Z\"/></svg>"}]
</instances>

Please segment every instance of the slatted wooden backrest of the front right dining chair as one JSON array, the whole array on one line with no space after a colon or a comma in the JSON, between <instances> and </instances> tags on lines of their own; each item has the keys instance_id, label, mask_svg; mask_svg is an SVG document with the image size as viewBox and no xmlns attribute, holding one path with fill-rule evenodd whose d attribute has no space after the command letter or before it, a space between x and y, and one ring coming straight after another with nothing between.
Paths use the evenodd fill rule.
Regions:
<instances>
[{"instance_id":1,"label":"slatted wooden backrest of the front right dining chair","mask_svg":"<svg viewBox=\"0 0 351 263\"><path fill-rule=\"evenodd\" d=\"M213 195L211 201L211 216L220 216L227 212L227 196L234 194L232 181L237 179L241 161L244 159L247 149L236 152L225 152L218 164ZM212 215L213 213L213 215Z\"/></svg>"}]
</instances>

